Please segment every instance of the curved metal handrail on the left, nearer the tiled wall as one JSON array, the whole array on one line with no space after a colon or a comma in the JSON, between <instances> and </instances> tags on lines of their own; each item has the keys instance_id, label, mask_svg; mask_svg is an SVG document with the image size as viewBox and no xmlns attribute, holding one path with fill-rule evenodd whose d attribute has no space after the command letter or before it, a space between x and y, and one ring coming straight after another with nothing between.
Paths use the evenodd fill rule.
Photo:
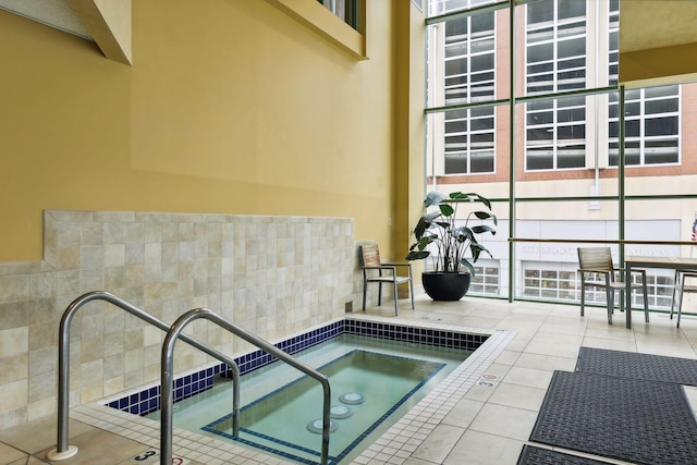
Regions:
<instances>
[{"instance_id":1,"label":"curved metal handrail on the left, nearer the tiled wall","mask_svg":"<svg viewBox=\"0 0 697 465\"><path fill-rule=\"evenodd\" d=\"M129 311L131 315L145 320L146 322L161 329L164 332L169 333L170 331L169 325L167 325L164 321L159 320L147 311L106 291L93 291L83 294L74 299L65 308L63 317L61 318L58 346L58 442L56 450L52 450L48 453L48 458L50 458L51 461L63 461L74 456L77 453L77 448L68 443L68 414L70 409L70 325L73 320L73 316L75 316L77 310L90 301L109 302L110 304L113 304L117 307ZM240 367L237 367L237 364L232 358L210 348L204 343L186 334L181 334L180 338L194 347L227 364L228 367L232 370L232 381L234 386L232 399L233 431L235 435L237 435L240 429Z\"/></svg>"}]
</instances>

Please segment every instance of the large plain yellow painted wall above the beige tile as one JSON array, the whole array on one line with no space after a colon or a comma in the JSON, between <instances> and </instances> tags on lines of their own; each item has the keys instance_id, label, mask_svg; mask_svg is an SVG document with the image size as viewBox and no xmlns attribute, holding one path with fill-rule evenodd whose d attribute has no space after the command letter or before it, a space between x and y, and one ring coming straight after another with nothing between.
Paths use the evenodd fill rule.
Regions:
<instances>
[{"instance_id":1,"label":"large plain yellow painted wall above the beige tile","mask_svg":"<svg viewBox=\"0 0 697 465\"><path fill-rule=\"evenodd\" d=\"M351 217L391 253L395 13L367 4L360 61L267 2L133 2L133 66L0 11L0 261L40 258L44 209Z\"/></svg>"}]
</instances>

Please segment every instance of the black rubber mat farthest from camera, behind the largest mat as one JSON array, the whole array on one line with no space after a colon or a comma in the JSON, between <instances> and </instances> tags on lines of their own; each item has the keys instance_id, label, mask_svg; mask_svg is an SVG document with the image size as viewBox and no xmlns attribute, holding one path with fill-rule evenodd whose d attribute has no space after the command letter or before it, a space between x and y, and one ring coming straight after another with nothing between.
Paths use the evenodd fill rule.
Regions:
<instances>
[{"instance_id":1,"label":"black rubber mat farthest from camera, behind the largest mat","mask_svg":"<svg viewBox=\"0 0 697 465\"><path fill-rule=\"evenodd\" d=\"M697 360L580 347L576 371L697 386Z\"/></svg>"}]
</instances>

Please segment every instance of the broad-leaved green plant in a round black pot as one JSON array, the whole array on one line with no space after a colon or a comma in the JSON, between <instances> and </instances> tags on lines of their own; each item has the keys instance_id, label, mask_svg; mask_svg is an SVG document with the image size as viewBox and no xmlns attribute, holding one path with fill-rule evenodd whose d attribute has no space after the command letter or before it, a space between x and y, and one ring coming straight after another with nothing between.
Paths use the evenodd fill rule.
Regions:
<instances>
[{"instance_id":1,"label":"broad-leaved green plant in a round black pot","mask_svg":"<svg viewBox=\"0 0 697 465\"><path fill-rule=\"evenodd\" d=\"M486 210L470 211L464 224L457 224L457 207L463 203L480 203ZM473 264L481 253L491 257L491 253L477 241L482 233L496 234L497 217L491 213L491 203L479 194L451 193L449 196L432 191L426 196L424 207L438 207L437 211L426 212L414 229L416 242L409 247L407 260L418 260L436 255L435 269L424 271L421 282L426 293L435 301L458 301L467 293ZM473 217L487 221L469 225ZM427 248L429 248L428 250Z\"/></svg>"}]
</instances>

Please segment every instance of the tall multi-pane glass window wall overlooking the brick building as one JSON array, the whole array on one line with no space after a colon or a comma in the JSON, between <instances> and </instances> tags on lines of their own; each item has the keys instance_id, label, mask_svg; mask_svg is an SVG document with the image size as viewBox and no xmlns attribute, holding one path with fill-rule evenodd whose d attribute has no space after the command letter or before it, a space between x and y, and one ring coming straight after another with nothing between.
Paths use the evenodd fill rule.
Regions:
<instances>
[{"instance_id":1,"label":"tall multi-pane glass window wall overlooking the brick building","mask_svg":"<svg viewBox=\"0 0 697 465\"><path fill-rule=\"evenodd\" d=\"M428 188L496 199L501 219L470 292L574 302L575 240L689 241L697 84L620 85L621 0L430 0L427 12ZM617 260L695 248L610 246ZM671 285L649 271L652 307L670 306Z\"/></svg>"}]
</instances>

